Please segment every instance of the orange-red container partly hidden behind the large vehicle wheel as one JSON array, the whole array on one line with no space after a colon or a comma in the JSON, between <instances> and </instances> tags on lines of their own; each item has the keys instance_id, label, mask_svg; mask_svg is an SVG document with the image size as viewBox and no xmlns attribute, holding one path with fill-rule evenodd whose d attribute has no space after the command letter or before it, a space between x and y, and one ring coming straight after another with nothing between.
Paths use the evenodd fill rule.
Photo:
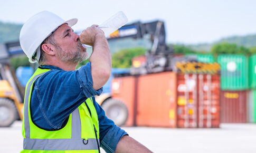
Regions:
<instances>
[{"instance_id":1,"label":"orange-red container partly hidden behind the large vehicle wheel","mask_svg":"<svg viewBox=\"0 0 256 153\"><path fill-rule=\"evenodd\" d=\"M136 81L137 77L117 77L112 80L112 98L121 100L128 108L128 119L125 126L135 126L136 121Z\"/></svg>"}]
</instances>

